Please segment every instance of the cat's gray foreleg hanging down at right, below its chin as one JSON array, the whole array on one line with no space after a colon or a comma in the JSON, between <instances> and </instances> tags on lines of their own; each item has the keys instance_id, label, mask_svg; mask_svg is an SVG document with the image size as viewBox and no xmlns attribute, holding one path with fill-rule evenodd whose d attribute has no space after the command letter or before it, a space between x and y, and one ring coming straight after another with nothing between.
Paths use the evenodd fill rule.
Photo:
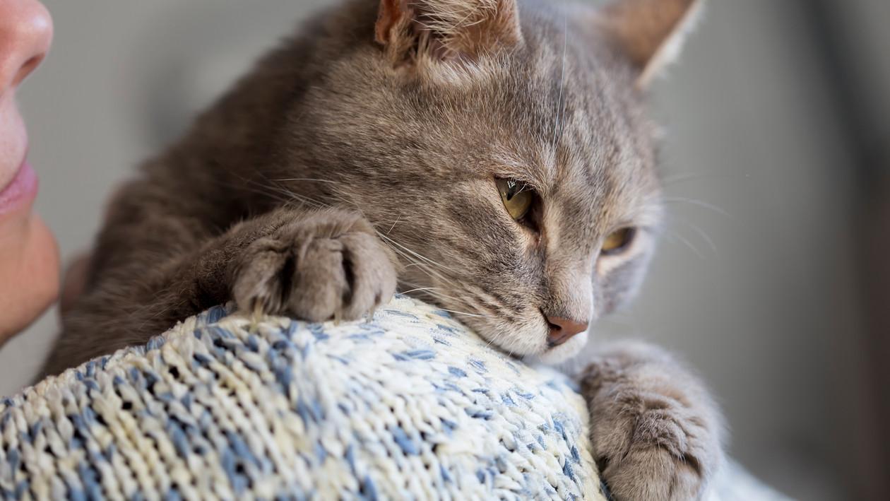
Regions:
<instances>
[{"instance_id":1,"label":"cat's gray foreleg hanging down at right, below its chin","mask_svg":"<svg viewBox=\"0 0 890 501\"><path fill-rule=\"evenodd\" d=\"M591 440L616 501L700 499L723 464L723 420L700 380L651 344L596 352L581 378Z\"/></svg>"}]
</instances>

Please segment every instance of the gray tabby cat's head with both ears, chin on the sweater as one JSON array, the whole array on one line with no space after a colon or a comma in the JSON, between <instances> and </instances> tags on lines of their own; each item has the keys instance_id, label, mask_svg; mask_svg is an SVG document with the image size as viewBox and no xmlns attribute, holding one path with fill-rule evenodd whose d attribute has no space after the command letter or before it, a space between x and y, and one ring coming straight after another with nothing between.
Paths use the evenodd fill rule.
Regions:
<instances>
[{"instance_id":1,"label":"gray tabby cat's head with both ears, chin on the sweater","mask_svg":"<svg viewBox=\"0 0 890 501\"><path fill-rule=\"evenodd\" d=\"M402 291L506 352L562 360L650 260L644 87L698 4L360 0L311 35L279 165L376 225Z\"/></svg>"}]
</instances>

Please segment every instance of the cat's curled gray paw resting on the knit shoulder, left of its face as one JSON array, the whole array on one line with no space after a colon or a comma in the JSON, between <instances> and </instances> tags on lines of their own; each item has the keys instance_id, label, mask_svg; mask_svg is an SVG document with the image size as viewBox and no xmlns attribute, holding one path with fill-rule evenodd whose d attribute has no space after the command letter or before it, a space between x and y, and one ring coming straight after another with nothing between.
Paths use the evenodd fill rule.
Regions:
<instances>
[{"instance_id":1,"label":"cat's curled gray paw resting on the knit shoulder, left of its face","mask_svg":"<svg viewBox=\"0 0 890 501\"><path fill-rule=\"evenodd\" d=\"M396 272L359 214L328 210L288 222L247 246L230 268L239 308L300 319L359 319L386 303Z\"/></svg>"}]
</instances>

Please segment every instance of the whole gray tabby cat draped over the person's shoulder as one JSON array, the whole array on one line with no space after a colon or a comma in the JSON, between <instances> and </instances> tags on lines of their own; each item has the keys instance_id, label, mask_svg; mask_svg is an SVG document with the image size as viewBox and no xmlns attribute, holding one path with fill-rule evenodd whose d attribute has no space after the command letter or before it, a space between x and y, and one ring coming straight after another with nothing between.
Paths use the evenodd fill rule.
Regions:
<instances>
[{"instance_id":1,"label":"whole gray tabby cat draped over the person's shoulder","mask_svg":"<svg viewBox=\"0 0 890 501\"><path fill-rule=\"evenodd\" d=\"M576 354L652 254L644 90L697 7L351 0L321 15L117 195L44 372L217 303L360 319L396 290L516 357ZM723 453L695 377L624 343L581 384L617 499L703 496Z\"/></svg>"}]
</instances>

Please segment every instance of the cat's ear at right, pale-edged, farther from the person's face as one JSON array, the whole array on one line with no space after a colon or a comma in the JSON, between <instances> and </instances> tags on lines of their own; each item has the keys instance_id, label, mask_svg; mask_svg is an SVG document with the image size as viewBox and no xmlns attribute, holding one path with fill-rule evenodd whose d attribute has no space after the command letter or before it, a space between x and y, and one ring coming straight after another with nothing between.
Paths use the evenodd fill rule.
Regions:
<instances>
[{"instance_id":1,"label":"cat's ear at right, pale-edged, farther from the person's face","mask_svg":"<svg viewBox=\"0 0 890 501\"><path fill-rule=\"evenodd\" d=\"M639 70L638 87L649 85L680 53L704 0L615 0L596 13L596 24Z\"/></svg>"}]
</instances>

